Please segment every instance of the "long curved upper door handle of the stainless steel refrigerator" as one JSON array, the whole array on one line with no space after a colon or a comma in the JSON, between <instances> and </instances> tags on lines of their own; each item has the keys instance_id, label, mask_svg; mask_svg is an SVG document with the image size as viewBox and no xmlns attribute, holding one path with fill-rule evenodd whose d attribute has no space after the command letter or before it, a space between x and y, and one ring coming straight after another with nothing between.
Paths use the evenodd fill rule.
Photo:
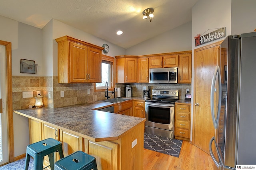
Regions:
<instances>
[{"instance_id":1,"label":"long curved upper door handle of the stainless steel refrigerator","mask_svg":"<svg viewBox=\"0 0 256 170\"><path fill-rule=\"evenodd\" d=\"M216 92L216 88L214 88L216 78L218 76L218 86L219 86L219 98L218 98L218 111L217 111L217 117L215 118L214 114L214 92ZM218 128L218 122L220 119L220 107L221 107L221 75L220 75L220 67L216 66L214 71L214 76L212 78L212 87L211 87L211 113L212 113L212 123L214 126L214 129Z\"/></svg>"}]
</instances>

